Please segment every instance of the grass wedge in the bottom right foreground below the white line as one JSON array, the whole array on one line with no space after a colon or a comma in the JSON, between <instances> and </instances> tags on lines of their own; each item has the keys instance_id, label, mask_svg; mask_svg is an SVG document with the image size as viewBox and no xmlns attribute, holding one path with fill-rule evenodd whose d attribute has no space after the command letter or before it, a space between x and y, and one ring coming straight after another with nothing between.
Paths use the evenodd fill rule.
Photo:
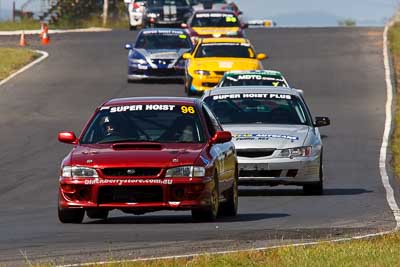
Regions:
<instances>
[{"instance_id":1,"label":"grass wedge in the bottom right foreground below the white line","mask_svg":"<svg viewBox=\"0 0 400 267\"><path fill-rule=\"evenodd\" d=\"M205 255L187 259L106 264L107 267L220 267L220 266L400 266L400 234L366 240L285 247L259 252ZM93 265L96 266L96 265Z\"/></svg>"}]
</instances>

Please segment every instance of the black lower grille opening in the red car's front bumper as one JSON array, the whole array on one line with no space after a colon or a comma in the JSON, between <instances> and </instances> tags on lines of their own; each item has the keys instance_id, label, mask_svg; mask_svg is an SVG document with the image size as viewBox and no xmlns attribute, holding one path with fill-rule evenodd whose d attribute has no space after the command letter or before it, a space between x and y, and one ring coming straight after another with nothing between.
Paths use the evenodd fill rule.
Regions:
<instances>
[{"instance_id":1,"label":"black lower grille opening in the red car's front bumper","mask_svg":"<svg viewBox=\"0 0 400 267\"><path fill-rule=\"evenodd\" d=\"M162 202L161 186L103 186L99 189L98 204Z\"/></svg>"}]
</instances>

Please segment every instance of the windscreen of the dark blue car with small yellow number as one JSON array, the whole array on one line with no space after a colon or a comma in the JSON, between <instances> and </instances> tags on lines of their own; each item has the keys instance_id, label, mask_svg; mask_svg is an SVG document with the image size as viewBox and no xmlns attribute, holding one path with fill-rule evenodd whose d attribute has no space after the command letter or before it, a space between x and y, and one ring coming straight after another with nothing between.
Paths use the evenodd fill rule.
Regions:
<instances>
[{"instance_id":1,"label":"windscreen of the dark blue car with small yellow number","mask_svg":"<svg viewBox=\"0 0 400 267\"><path fill-rule=\"evenodd\" d=\"M190 38L180 32L143 32L137 39L135 48L143 49L191 49Z\"/></svg>"}]
</instances>

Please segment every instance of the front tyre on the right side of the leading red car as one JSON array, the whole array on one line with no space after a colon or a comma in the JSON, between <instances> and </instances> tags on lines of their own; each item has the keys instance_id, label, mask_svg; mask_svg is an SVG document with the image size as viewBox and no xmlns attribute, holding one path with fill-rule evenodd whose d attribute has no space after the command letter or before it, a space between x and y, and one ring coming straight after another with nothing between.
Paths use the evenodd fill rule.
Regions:
<instances>
[{"instance_id":1,"label":"front tyre on the right side of the leading red car","mask_svg":"<svg viewBox=\"0 0 400 267\"><path fill-rule=\"evenodd\" d=\"M210 206L205 209L192 209L192 218L196 222L212 222L218 216L219 210L219 190L218 177L214 177L213 189L211 191Z\"/></svg>"}]
</instances>

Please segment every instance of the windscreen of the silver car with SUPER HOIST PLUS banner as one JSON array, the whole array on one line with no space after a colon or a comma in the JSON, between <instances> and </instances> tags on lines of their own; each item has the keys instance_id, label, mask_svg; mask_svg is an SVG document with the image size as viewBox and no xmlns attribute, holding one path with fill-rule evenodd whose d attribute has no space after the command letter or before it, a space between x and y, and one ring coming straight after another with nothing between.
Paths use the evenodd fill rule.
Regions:
<instances>
[{"instance_id":1,"label":"windscreen of the silver car with SUPER HOIST PLUS banner","mask_svg":"<svg viewBox=\"0 0 400 267\"><path fill-rule=\"evenodd\" d=\"M302 101L290 94L221 94L209 96L205 102L222 124L311 125Z\"/></svg>"}]
</instances>

